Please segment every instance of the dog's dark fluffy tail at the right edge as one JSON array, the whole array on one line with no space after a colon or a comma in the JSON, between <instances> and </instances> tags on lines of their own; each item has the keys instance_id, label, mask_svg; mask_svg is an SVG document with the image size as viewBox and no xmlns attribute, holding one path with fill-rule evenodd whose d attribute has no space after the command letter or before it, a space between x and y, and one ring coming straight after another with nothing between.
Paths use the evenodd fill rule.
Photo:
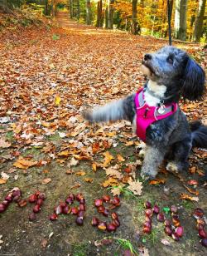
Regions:
<instances>
[{"instance_id":1,"label":"dog's dark fluffy tail at the right edge","mask_svg":"<svg viewBox=\"0 0 207 256\"><path fill-rule=\"evenodd\" d=\"M190 122L190 130L192 131L192 145L207 149L207 126L201 124L200 121Z\"/></svg>"}]
</instances>

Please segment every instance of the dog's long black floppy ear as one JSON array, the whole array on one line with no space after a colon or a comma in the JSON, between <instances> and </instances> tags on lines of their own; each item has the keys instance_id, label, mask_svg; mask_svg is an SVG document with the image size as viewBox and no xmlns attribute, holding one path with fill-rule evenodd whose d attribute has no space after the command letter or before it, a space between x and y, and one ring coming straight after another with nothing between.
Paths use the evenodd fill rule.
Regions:
<instances>
[{"instance_id":1,"label":"dog's long black floppy ear","mask_svg":"<svg viewBox=\"0 0 207 256\"><path fill-rule=\"evenodd\" d=\"M182 96L190 101L199 99L205 91L205 71L190 57L185 66Z\"/></svg>"}]
</instances>

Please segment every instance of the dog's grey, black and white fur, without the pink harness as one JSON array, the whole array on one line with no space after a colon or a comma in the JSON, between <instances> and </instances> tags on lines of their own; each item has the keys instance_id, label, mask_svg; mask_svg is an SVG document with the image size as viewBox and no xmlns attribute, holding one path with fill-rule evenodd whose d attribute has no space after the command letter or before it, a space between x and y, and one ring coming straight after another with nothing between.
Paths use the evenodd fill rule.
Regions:
<instances>
[{"instance_id":1,"label":"dog's grey, black and white fur, without the pink harness","mask_svg":"<svg viewBox=\"0 0 207 256\"><path fill-rule=\"evenodd\" d=\"M158 52L146 54L142 67L148 79L145 86L150 87L153 93L153 96L149 96L148 105L156 106L160 100L165 104L178 102L181 96L190 101L197 100L204 94L205 72L186 52L176 47L163 47ZM161 88L162 94L159 92ZM90 122L128 120L136 126L134 97L135 94L132 94L85 112L84 118ZM166 168L180 171L188 168L192 146L207 148L207 127L200 122L189 125L180 108L166 119L148 126L146 137L147 148L141 175L150 179L156 176L158 166L166 155L170 160Z\"/></svg>"}]
</instances>

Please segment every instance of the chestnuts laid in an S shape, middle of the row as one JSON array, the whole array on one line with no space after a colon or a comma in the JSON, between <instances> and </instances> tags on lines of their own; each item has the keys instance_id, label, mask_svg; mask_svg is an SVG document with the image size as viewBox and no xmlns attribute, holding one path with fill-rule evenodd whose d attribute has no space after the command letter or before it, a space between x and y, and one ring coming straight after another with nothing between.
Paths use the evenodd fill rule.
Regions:
<instances>
[{"instance_id":1,"label":"chestnuts laid in an S shape, middle of the row","mask_svg":"<svg viewBox=\"0 0 207 256\"><path fill-rule=\"evenodd\" d=\"M103 203L110 204L108 208L103 206ZM111 215L112 221L107 223L106 221L102 221L97 217L93 217L91 224L92 226L96 226L99 230L107 230L108 232L115 232L116 229L120 226L120 222L118 219L118 214L112 212L110 214L109 209L114 209L120 205L120 199L115 196L113 199L110 198L109 195L103 195L102 199L95 199L94 205L98 210L99 214L103 214L103 216L108 217Z\"/></svg>"}]
</instances>

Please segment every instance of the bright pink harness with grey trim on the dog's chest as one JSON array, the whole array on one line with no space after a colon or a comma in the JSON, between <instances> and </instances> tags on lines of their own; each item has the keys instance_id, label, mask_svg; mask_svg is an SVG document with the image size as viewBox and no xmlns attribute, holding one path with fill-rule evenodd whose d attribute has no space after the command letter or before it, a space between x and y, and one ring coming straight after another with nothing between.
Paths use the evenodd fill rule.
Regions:
<instances>
[{"instance_id":1,"label":"bright pink harness with grey trim on the dog's chest","mask_svg":"<svg viewBox=\"0 0 207 256\"><path fill-rule=\"evenodd\" d=\"M144 100L143 88L137 91L135 96L135 106L137 108L137 136L146 141L146 130L153 122L171 116L177 111L177 103L161 106L148 106Z\"/></svg>"}]
</instances>

